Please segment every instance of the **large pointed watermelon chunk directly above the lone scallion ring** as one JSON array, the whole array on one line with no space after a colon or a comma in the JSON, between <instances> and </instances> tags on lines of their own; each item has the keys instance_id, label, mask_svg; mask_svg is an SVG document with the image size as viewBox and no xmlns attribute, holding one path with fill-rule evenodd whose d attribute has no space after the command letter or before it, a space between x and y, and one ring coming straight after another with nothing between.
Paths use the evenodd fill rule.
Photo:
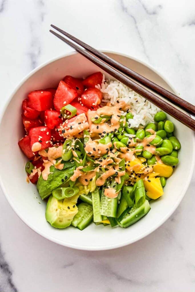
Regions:
<instances>
[{"instance_id":1,"label":"large pointed watermelon chunk directly above the lone scallion ring","mask_svg":"<svg viewBox=\"0 0 195 292\"><path fill-rule=\"evenodd\" d=\"M77 97L78 93L70 85L64 81L60 81L56 94L54 96L54 107L57 111L60 111L62 107L70 104L73 99Z\"/></svg>"}]
</instances>

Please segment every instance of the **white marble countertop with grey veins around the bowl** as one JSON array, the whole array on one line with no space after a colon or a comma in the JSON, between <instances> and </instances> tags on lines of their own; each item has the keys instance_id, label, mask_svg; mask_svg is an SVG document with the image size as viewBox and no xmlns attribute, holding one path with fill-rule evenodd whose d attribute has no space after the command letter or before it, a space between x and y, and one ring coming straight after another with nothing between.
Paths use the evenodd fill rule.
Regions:
<instances>
[{"instance_id":1,"label":"white marble countertop with grey veins around the bowl","mask_svg":"<svg viewBox=\"0 0 195 292\"><path fill-rule=\"evenodd\" d=\"M194 103L193 0L0 0L0 110L19 81L71 51L53 23L96 48L132 55ZM129 246L87 252L54 244L13 212L0 190L1 292L195 291L195 174L175 213Z\"/></svg>"}]
</instances>

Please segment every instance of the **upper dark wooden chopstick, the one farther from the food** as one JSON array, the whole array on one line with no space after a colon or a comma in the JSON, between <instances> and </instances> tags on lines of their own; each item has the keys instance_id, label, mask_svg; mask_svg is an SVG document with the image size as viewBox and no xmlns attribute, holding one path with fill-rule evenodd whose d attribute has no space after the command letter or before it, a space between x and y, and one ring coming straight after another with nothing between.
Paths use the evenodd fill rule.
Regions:
<instances>
[{"instance_id":1,"label":"upper dark wooden chopstick, the one farther from the food","mask_svg":"<svg viewBox=\"0 0 195 292\"><path fill-rule=\"evenodd\" d=\"M69 39L72 39L77 44L85 48L87 51L93 53L96 57L100 58L104 62L108 63L115 69L119 70L120 72L128 75L129 77L133 78L134 80L138 81L142 85L148 87L149 89L153 90L154 92L158 93L159 95L163 96L165 99L171 101L173 104L177 105L181 109L185 110L189 114L195 115L195 106L192 105L190 102L180 98L179 96L171 93L170 91L166 90L165 88L159 86L158 84L152 82L151 80L143 77L142 75L138 74L137 72L134 72L130 68L127 68L126 66L122 65L121 63L113 60L112 58L108 57L107 55L101 53L100 51L96 50L95 48L89 46L88 44L84 43L80 39L77 39L75 36L72 36L68 32L65 32L64 30L60 29L59 27L56 27L55 25L51 24L51 27L55 28L65 36L67 36Z\"/></svg>"}]
</instances>

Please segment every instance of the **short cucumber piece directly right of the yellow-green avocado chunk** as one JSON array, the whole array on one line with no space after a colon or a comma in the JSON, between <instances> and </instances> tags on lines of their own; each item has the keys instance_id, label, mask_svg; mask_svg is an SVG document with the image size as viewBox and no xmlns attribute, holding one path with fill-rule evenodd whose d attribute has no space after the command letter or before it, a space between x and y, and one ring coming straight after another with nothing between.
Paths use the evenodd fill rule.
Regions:
<instances>
[{"instance_id":1,"label":"short cucumber piece directly right of the yellow-green avocado chunk","mask_svg":"<svg viewBox=\"0 0 195 292\"><path fill-rule=\"evenodd\" d=\"M71 225L83 230L93 219L93 208L87 203L80 203L77 207L78 213L73 218Z\"/></svg>"}]
</instances>

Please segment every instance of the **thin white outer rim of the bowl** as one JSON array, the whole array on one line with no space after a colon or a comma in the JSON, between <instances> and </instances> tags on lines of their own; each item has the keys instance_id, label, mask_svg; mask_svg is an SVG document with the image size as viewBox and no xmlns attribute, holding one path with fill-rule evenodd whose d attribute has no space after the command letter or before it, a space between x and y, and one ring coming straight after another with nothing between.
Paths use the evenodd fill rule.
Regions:
<instances>
[{"instance_id":1,"label":"thin white outer rim of the bowl","mask_svg":"<svg viewBox=\"0 0 195 292\"><path fill-rule=\"evenodd\" d=\"M161 77L169 86L170 88L172 89L172 91L178 95L178 92L175 90L175 88L170 84L170 82L161 74L159 73L155 68L153 68L151 65L147 64L146 62L143 62L142 60L139 60L138 58L135 58L131 55L127 55L127 54L124 54L124 53L120 53L120 52L115 52L115 51L110 51L110 50L103 50L101 49L100 50L101 52L105 52L105 53L112 53L112 54L116 54L116 55L120 55L120 56L123 56L123 57L126 57L126 58L130 58L146 67L148 67L149 69L151 69L153 72L155 72L159 77ZM71 55L75 55L75 54L78 54L77 52L75 51L71 51L69 53L66 53L66 54L62 54L62 55L59 55L57 57L54 57L54 58L51 58L50 60L42 63L41 65L39 65L38 67L36 67L35 69L33 69L30 73L28 73L18 84L18 86L15 87L15 89L13 90L13 92L11 93L10 97L8 98L8 100L6 101L2 111L1 111L1 114L0 114L0 124L1 124L1 121L3 119L3 116L6 112L6 109L9 105L9 103L11 102L13 96L15 95L15 93L18 91L18 89L23 85L23 83L29 79L34 73L36 73L37 71L39 71L40 69L42 69L43 67L45 67L46 65L52 63L52 62L55 62L61 58L65 58L65 57L69 57ZM134 239L128 239L126 241L122 241L121 243L119 244L110 244L110 245L107 245L107 246L96 246L96 247L93 247L93 246L84 246L84 245L80 245L80 244L70 244L70 243L66 243L62 240L59 240L59 239L56 239L48 234L46 234L45 232L42 232L41 230L39 230L37 227L34 227L33 224L30 224L25 218L23 218L22 215L20 215L20 213L18 212L18 210L15 208L14 204L12 203L12 200L9 198L8 194L6 193L6 189L4 187L4 183L2 181L2 178L1 178L1 175L0 175L0 186L1 186L1 189L8 201L8 203L10 204L11 208L13 209L13 211L16 213L16 215L28 226L30 227L30 229L32 229L34 232L38 233L39 235L43 236L44 238L50 240L50 241L53 241L57 244L60 244L62 246L67 246L67 247L70 247L70 248L74 248L74 249L79 249L79 250L86 250L86 251L100 251L100 250L110 250L110 249L114 249L114 248L120 248L122 246L126 246L126 245L129 245L129 244L132 244L144 237L146 237L147 235L151 234L153 231L155 231L158 227L160 227L176 210L176 208L179 206L180 202L182 201L185 193L187 192L187 189L189 187L189 184L190 184L190 181L191 181L191 178L192 178L192 174L193 174L193 171L194 171L194 165L195 165L195 136L194 136L194 133L193 131L191 130L191 137L192 137L192 140L194 141L193 145L192 145L192 159L191 159L191 168L190 168L190 175L186 181L186 185L182 191L182 193L180 194L180 196L178 197L177 201L175 201L175 204L174 206L172 207L172 209L158 222L158 224L154 225L153 227L151 227L149 230L147 230L146 232L143 232L141 235L137 236L136 238Z\"/></svg>"}]
</instances>

